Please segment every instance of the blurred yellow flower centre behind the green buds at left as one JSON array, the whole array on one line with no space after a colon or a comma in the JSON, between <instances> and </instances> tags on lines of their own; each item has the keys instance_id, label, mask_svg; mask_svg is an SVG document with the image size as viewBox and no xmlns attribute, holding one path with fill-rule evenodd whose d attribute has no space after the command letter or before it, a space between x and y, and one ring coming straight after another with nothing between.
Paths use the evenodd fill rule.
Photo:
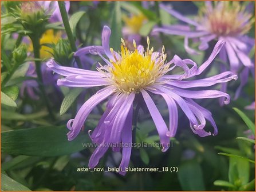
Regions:
<instances>
[{"instance_id":1,"label":"blurred yellow flower centre behind the green buds at left","mask_svg":"<svg viewBox=\"0 0 256 192\"><path fill-rule=\"evenodd\" d=\"M57 32L54 34L54 31L52 29L45 31L45 33L42 35L40 39L40 58L41 59L48 59L52 57L50 53L52 53L52 48L45 46L44 44L56 44L58 42L58 39L61 38L61 32ZM32 43L29 45L29 51L33 51Z\"/></svg>"}]
</instances>

